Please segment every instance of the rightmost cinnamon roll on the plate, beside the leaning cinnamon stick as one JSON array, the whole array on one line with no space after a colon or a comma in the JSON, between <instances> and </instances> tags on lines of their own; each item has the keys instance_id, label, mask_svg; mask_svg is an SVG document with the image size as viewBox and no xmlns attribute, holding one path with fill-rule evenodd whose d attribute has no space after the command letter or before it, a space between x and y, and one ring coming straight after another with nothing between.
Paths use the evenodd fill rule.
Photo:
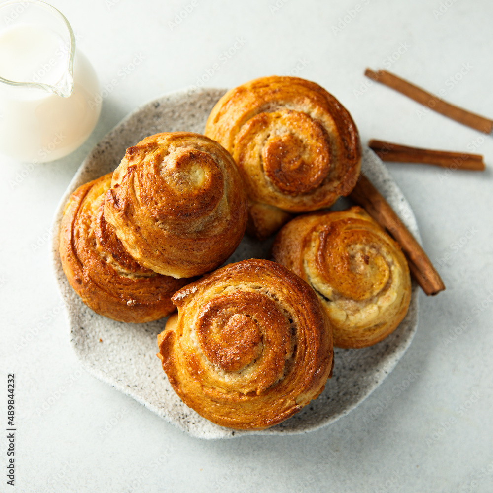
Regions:
<instances>
[{"instance_id":1,"label":"rightmost cinnamon roll on the plate, beside the leaning cinnamon stick","mask_svg":"<svg viewBox=\"0 0 493 493\"><path fill-rule=\"evenodd\" d=\"M407 313L406 258L358 206L296 217L279 231L272 254L313 287L330 318L334 346L371 346Z\"/></svg>"}]
</instances>

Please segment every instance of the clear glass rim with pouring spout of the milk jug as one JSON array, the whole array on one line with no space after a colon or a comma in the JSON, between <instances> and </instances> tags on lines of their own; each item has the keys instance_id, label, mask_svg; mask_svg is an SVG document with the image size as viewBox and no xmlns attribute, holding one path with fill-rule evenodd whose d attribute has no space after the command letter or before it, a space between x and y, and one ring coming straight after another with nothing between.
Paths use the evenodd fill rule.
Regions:
<instances>
[{"instance_id":1,"label":"clear glass rim with pouring spout of the milk jug","mask_svg":"<svg viewBox=\"0 0 493 493\"><path fill-rule=\"evenodd\" d=\"M26 4L36 5L38 7L44 8L46 11L53 14L55 17L58 17L59 20L67 28L70 38L70 46L69 46L69 57L68 63L65 68L64 74L60 78L60 80L52 85L52 84L44 84L42 82L18 82L15 80L10 80L2 77L0 75L0 82L7 84L12 87L35 87L38 89L42 89L48 93L57 94L63 98L67 98L72 94L73 90L73 62L75 58L75 35L73 34L72 26L70 26L70 22L67 17L60 12L57 8L49 3L46 3L41 0L7 0L0 2L0 10L3 8L11 7L13 5L20 5L21 7L25 7Z\"/></svg>"}]
</instances>

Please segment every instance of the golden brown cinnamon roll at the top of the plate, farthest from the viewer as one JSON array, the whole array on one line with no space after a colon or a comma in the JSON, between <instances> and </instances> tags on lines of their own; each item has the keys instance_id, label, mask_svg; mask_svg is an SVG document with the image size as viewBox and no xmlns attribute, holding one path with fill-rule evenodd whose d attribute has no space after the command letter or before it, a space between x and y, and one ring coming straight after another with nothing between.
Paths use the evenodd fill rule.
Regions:
<instances>
[{"instance_id":1,"label":"golden brown cinnamon roll at the top of the plate, farthest from the viewer","mask_svg":"<svg viewBox=\"0 0 493 493\"><path fill-rule=\"evenodd\" d=\"M348 195L359 175L361 145L351 115L314 82L262 77L228 91L205 135L234 157L251 202L248 231L265 237L292 216ZM269 207L266 207L269 206ZM281 211L272 218L272 208ZM260 225L257 227L257 222Z\"/></svg>"}]
</instances>

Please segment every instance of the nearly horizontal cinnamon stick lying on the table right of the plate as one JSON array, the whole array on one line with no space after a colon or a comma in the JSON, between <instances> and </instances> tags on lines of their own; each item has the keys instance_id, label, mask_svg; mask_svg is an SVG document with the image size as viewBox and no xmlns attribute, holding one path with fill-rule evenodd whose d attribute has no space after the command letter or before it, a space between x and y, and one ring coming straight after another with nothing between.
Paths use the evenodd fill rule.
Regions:
<instances>
[{"instance_id":1,"label":"nearly horizontal cinnamon stick lying on the table right of the plate","mask_svg":"<svg viewBox=\"0 0 493 493\"><path fill-rule=\"evenodd\" d=\"M480 154L423 149L374 139L368 142L368 146L382 161L426 163L461 170L483 171L485 169L483 156Z\"/></svg>"}]
</instances>

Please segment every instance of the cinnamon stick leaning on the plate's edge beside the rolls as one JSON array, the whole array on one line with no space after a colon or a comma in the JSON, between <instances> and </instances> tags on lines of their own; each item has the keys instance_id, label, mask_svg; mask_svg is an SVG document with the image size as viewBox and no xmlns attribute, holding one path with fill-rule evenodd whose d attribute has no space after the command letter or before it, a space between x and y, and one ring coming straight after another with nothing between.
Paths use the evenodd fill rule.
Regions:
<instances>
[{"instance_id":1,"label":"cinnamon stick leaning on the plate's edge beside the rolls","mask_svg":"<svg viewBox=\"0 0 493 493\"><path fill-rule=\"evenodd\" d=\"M366 176L360 175L350 197L356 204L364 207L399 243L408 259L411 274L428 296L445 289L445 284L423 248Z\"/></svg>"}]
</instances>

